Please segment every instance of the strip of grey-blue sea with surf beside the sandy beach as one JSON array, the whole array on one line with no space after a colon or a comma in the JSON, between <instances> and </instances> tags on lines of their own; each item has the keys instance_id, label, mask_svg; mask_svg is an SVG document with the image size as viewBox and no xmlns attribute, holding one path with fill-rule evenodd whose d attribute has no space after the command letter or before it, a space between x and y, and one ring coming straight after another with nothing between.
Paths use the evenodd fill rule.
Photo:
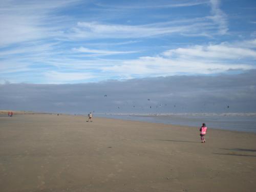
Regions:
<instances>
[{"instance_id":1,"label":"strip of grey-blue sea with surf beside the sandy beach","mask_svg":"<svg viewBox=\"0 0 256 192\"><path fill-rule=\"evenodd\" d=\"M256 133L256 114L176 114L176 115L106 115L95 116L144 122L200 127L206 123L209 129Z\"/></svg>"}]
</instances>

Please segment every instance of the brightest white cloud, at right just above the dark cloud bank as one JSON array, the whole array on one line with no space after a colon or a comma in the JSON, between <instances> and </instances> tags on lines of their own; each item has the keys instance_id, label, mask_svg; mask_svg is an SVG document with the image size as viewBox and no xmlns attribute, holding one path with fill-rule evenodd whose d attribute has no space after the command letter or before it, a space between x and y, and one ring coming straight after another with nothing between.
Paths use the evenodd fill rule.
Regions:
<instances>
[{"instance_id":1,"label":"brightest white cloud, at right just above the dark cloud bank","mask_svg":"<svg viewBox=\"0 0 256 192\"><path fill-rule=\"evenodd\" d=\"M219 45L191 46L167 50L159 56L125 60L101 69L123 75L168 76L176 74L216 74L228 70L256 69L252 62L256 51L250 49L255 40ZM243 45L240 46L239 45ZM245 47L247 45L247 47Z\"/></svg>"}]
</instances>

